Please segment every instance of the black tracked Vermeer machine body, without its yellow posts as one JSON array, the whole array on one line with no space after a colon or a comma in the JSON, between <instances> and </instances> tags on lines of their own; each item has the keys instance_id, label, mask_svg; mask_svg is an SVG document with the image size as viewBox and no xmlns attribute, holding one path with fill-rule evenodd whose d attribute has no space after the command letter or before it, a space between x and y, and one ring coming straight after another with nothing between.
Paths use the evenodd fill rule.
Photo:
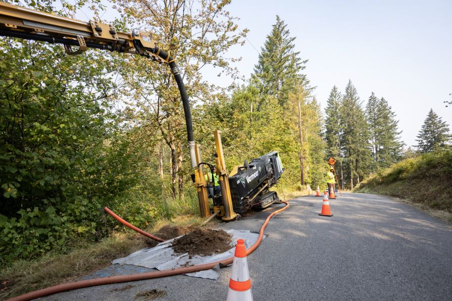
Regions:
<instances>
[{"instance_id":1,"label":"black tracked Vermeer machine body, without its yellow posts","mask_svg":"<svg viewBox=\"0 0 452 301\"><path fill-rule=\"evenodd\" d=\"M243 214L249 208L261 210L281 201L276 191L268 189L277 184L283 173L278 152L270 152L239 166L229 177L234 212Z\"/></svg>"}]
</instances>

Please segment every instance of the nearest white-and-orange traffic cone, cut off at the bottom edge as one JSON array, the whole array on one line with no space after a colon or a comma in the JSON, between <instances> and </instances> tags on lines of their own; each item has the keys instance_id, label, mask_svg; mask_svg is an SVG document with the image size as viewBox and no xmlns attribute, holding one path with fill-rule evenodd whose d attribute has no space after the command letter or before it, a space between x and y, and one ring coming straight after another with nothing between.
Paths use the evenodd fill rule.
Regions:
<instances>
[{"instance_id":1,"label":"nearest white-and-orange traffic cone, cut off at the bottom edge","mask_svg":"<svg viewBox=\"0 0 452 301\"><path fill-rule=\"evenodd\" d=\"M245 241L237 239L234 262L232 264L231 279L226 301L253 301L251 280L246 261Z\"/></svg>"}]
</instances>

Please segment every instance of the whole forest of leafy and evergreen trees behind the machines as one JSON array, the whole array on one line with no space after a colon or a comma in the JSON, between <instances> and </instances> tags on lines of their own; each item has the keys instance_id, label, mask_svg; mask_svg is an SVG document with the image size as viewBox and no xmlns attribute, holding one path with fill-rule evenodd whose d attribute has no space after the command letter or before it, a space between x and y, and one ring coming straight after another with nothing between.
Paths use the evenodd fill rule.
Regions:
<instances>
[{"instance_id":1,"label":"whole forest of leafy and evergreen trees behind the machines","mask_svg":"<svg viewBox=\"0 0 452 301\"><path fill-rule=\"evenodd\" d=\"M10 2L68 17L89 7L103 17L98 0ZM388 102L372 93L364 107L351 80L342 92L332 87L322 111L305 74L307 58L295 51L296 38L279 16L246 84L220 87L203 78L203 68L242 77L232 64L240 58L228 49L247 34L229 14L229 1L113 3L117 30L152 32L177 58L204 161L214 162L219 129L229 170L277 150L285 168L280 182L302 190L325 185L332 156L340 185L353 189L372 172L417 155L403 151ZM182 104L167 66L92 50L68 56L59 45L13 38L0 39L0 54L3 264L107 236L115 224L104 206L139 227L198 213ZM433 111L427 119L442 136L430 141L426 126L418 151L448 151L447 125Z\"/></svg>"}]
</instances>

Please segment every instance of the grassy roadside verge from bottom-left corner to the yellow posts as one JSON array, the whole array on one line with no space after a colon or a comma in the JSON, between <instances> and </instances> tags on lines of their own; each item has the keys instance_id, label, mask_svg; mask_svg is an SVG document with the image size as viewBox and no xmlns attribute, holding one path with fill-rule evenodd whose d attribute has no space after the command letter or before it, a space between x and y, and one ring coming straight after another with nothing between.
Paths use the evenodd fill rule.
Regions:
<instances>
[{"instance_id":1,"label":"grassy roadside verge from bottom-left corner to the yellow posts","mask_svg":"<svg viewBox=\"0 0 452 301\"><path fill-rule=\"evenodd\" d=\"M204 219L197 215L198 199L187 189L183 200L164 197L153 199L146 191L132 191L115 211L134 224L152 220L145 231L157 233L164 225L199 226ZM196 190L195 190L196 192ZM156 208L158 216L149 216L147 209ZM38 259L17 260L0 271L0 299L17 296L40 288L75 281L110 265L114 259L125 257L155 241L137 234L117 223L109 237L98 242L78 241L66 254L54 250Z\"/></svg>"}]
</instances>

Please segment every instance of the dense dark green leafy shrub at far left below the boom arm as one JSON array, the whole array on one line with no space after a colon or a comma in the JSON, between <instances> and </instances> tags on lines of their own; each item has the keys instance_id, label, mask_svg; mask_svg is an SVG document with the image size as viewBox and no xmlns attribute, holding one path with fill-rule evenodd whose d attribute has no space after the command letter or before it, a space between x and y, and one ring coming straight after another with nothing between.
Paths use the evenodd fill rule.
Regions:
<instances>
[{"instance_id":1,"label":"dense dark green leafy shrub at far left below the boom arm","mask_svg":"<svg viewBox=\"0 0 452 301\"><path fill-rule=\"evenodd\" d=\"M107 230L102 208L142 176L113 112L114 58L0 40L0 252L33 257Z\"/></svg>"}]
</instances>

